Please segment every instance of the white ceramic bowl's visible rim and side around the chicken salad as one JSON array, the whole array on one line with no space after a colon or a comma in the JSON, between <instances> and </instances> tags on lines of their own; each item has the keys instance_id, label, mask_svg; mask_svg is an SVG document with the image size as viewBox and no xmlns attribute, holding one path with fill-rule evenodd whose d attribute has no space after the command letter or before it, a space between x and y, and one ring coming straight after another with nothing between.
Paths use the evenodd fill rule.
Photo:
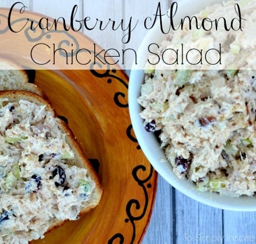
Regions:
<instances>
[{"instance_id":1,"label":"white ceramic bowl's visible rim and side around the chicken salad","mask_svg":"<svg viewBox=\"0 0 256 244\"><path fill-rule=\"evenodd\" d=\"M175 17L176 19L180 19L186 15L196 14L208 5L221 2L223 1L182 0L178 2L178 11ZM168 18L166 17L163 23L167 25L167 21ZM148 58L147 46L153 42L160 43L165 37L165 35L161 33L159 26L156 25L155 27L156 28L151 29L151 31L147 33L139 47L137 52L139 63L145 63ZM140 147L148 161L150 161L159 175L161 175L170 185L184 193L186 196L209 206L235 211L256 211L256 197L243 196L240 198L230 198L226 196L220 196L219 193L215 192L200 192L196 189L195 184L189 182L186 179L179 179L176 175L174 175L172 165L166 161L165 155L160 149L159 142L157 141L155 135L153 133L147 132L144 129L143 120L139 115L139 113L142 111L142 108L137 103L137 98L140 95L140 89L143 80L143 70L138 70L137 66L133 65L129 81L130 116L133 129Z\"/></svg>"}]
</instances>

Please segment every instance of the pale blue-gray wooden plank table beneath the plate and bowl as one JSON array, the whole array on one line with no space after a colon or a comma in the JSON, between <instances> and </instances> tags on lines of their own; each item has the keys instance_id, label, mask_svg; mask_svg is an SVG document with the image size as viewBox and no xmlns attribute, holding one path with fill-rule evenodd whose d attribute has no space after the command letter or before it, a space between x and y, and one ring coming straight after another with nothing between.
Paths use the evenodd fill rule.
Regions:
<instances>
[{"instance_id":1,"label":"pale blue-gray wooden plank table beneath the plate and bowl","mask_svg":"<svg viewBox=\"0 0 256 244\"><path fill-rule=\"evenodd\" d=\"M182 0L181 0L182 1ZM203 1L203 0L200 0ZM8 7L17 1L1 0L1 7ZM141 21L156 12L158 1L153 0L46 0L21 1L29 10L51 17L70 18L70 10L78 5L78 16L89 15L99 19L127 19L137 16ZM167 10L172 1L162 0L161 6ZM179 2L179 1L177 1ZM84 30L104 48L120 45L123 32L116 31L109 36L107 32ZM133 32L130 46L137 48L145 29L139 27ZM126 57L124 69L131 68L132 59ZM232 201L232 200L230 200ZM143 244L183 244L183 243L256 243L256 212L233 212L220 210L200 204L184 196L168 185L160 176L156 203L152 219L143 239Z\"/></svg>"}]
</instances>

